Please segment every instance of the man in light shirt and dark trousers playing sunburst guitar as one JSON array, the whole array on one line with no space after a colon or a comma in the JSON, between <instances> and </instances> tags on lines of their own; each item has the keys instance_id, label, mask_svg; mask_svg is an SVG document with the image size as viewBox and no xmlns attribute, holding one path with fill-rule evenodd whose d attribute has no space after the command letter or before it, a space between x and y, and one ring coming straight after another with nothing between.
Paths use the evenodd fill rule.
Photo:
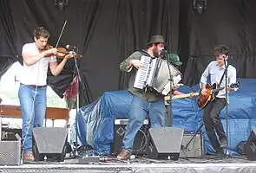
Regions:
<instances>
[{"instance_id":1,"label":"man in light shirt and dark trousers playing sunburst guitar","mask_svg":"<svg viewBox=\"0 0 256 173\"><path fill-rule=\"evenodd\" d=\"M208 64L207 68L203 72L200 78L201 94L207 95L207 80L210 78L210 85L214 83L219 86L225 86L225 61L224 58L228 59L229 50L226 46L219 46L214 48L214 54L216 56L216 61L212 61ZM229 87L230 84L236 82L236 69L235 67L227 65L227 91L233 92L235 88ZM216 154L223 155L223 147L226 146L226 133L223 129L223 125L220 121L220 112L226 106L226 94L225 89L222 89L215 95L212 101L209 101L206 106L204 106L204 124L207 131L207 136L213 145L213 149ZM219 140L216 137L216 133L219 136Z\"/></svg>"}]
</instances>

